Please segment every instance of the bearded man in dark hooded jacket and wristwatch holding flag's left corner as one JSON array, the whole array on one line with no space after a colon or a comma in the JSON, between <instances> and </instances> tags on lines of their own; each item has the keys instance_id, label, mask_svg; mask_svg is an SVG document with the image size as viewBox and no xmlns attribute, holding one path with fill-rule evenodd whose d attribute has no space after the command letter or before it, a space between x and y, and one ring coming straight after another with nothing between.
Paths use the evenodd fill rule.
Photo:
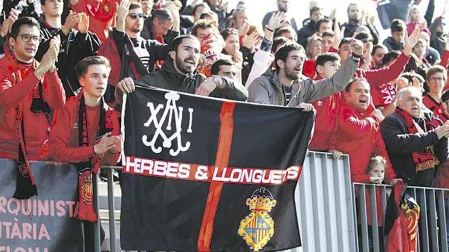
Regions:
<instances>
[{"instance_id":1,"label":"bearded man in dark hooded jacket and wristwatch holding flag's left corner","mask_svg":"<svg viewBox=\"0 0 449 252\"><path fill-rule=\"evenodd\" d=\"M117 83L115 99L121 103L121 93L134 92L135 86L155 87L190 94L245 101L248 91L229 78L213 76L206 78L196 71L200 48L193 35L182 35L174 39L165 64L158 72L134 81L127 77Z\"/></svg>"}]
</instances>

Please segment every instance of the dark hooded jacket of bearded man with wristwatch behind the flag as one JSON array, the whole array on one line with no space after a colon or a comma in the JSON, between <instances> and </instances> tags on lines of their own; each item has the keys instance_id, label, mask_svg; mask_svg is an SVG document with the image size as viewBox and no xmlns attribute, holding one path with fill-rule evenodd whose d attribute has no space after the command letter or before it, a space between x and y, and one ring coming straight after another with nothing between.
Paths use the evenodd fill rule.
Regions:
<instances>
[{"instance_id":1,"label":"dark hooded jacket of bearded man with wristwatch behind the flag","mask_svg":"<svg viewBox=\"0 0 449 252\"><path fill-rule=\"evenodd\" d=\"M181 74L173 66L173 61L168 56L165 59L165 63L162 68L157 72L149 73L143 76L139 80L135 81L136 86L142 87L155 87L161 89L167 89L172 91L184 92L194 94L196 89L206 80L206 76L198 73L196 70L193 74ZM222 89L216 88L209 95L211 97L225 98L237 101L246 101L248 98L248 91L245 87L238 83L234 83L230 79L223 80L226 82L226 86ZM116 89L118 91L118 89ZM115 98L119 95L116 92ZM118 100L118 99L117 99Z\"/></svg>"}]
</instances>

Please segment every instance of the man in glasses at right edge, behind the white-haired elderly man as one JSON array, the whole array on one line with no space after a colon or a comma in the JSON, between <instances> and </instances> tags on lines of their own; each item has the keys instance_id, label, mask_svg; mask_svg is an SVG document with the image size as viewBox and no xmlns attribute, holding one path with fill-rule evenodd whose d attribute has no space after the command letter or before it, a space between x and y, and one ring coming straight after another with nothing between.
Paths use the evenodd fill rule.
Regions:
<instances>
[{"instance_id":1,"label":"man in glasses at right edge, behind the white-haired elderly man","mask_svg":"<svg viewBox=\"0 0 449 252\"><path fill-rule=\"evenodd\" d=\"M444 106L441 101L446 77L447 71L444 67L437 65L429 68L426 74L429 93L422 98L424 105L432 110L435 116L443 122L449 120L449 116L444 113Z\"/></svg>"}]
</instances>

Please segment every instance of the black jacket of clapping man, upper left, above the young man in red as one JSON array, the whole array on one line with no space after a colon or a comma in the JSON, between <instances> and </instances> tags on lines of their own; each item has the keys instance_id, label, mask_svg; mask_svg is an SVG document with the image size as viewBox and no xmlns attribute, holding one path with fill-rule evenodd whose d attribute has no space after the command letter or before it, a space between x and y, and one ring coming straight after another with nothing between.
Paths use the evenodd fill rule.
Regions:
<instances>
[{"instance_id":1,"label":"black jacket of clapping man, upper left, above the young man in red","mask_svg":"<svg viewBox=\"0 0 449 252\"><path fill-rule=\"evenodd\" d=\"M98 47L101 42L98 37L91 32L85 34L73 30L68 35L61 32L61 29L50 27L45 23L40 24L40 36L42 42L39 44L35 58L40 61L43 55L47 52L50 45L50 40L59 35L61 38L61 48L59 50L58 75L62 81L62 85L67 97L73 96L80 88L77 75L74 71L75 66L82 59L96 55Z\"/></svg>"}]
</instances>

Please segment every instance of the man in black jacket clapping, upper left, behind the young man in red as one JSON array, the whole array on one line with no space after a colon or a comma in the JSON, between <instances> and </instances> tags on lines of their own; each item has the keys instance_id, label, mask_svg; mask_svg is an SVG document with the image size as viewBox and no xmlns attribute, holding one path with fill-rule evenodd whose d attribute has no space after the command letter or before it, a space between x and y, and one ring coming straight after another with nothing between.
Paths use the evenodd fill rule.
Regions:
<instances>
[{"instance_id":1,"label":"man in black jacket clapping, upper left, behind the young man in red","mask_svg":"<svg viewBox=\"0 0 449 252\"><path fill-rule=\"evenodd\" d=\"M45 22L40 24L40 37L42 42L36 53L36 59L40 61L48 50L51 39L57 35L61 38L59 50L58 75L67 97L75 95L80 88L78 78L73 71L74 67L83 58L94 55L98 50L100 41L97 36L88 32L89 22L85 13L70 12L64 25L61 25L61 14L63 10L62 0L41 0L42 11ZM74 27L78 25L78 31Z\"/></svg>"}]
</instances>

